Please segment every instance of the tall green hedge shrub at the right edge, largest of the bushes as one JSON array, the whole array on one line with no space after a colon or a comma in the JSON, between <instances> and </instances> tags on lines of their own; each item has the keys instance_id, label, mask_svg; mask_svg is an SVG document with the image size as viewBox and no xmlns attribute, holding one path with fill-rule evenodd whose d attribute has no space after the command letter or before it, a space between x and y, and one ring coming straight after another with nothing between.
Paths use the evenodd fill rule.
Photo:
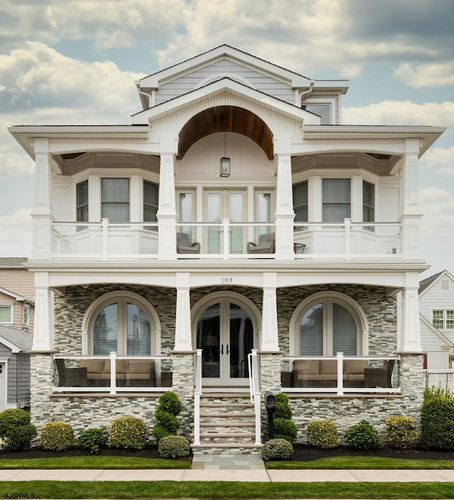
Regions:
<instances>
[{"instance_id":1,"label":"tall green hedge shrub at the right edge, largest of the bushes","mask_svg":"<svg viewBox=\"0 0 454 500\"><path fill-rule=\"evenodd\" d=\"M454 450L454 395L441 387L426 389L421 406L423 448Z\"/></svg>"}]
</instances>

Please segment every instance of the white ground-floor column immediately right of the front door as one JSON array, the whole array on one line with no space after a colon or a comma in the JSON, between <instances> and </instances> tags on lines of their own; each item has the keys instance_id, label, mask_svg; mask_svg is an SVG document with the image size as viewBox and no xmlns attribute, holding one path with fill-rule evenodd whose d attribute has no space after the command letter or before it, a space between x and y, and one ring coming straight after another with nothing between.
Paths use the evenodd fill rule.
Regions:
<instances>
[{"instance_id":1,"label":"white ground-floor column immediately right of the front door","mask_svg":"<svg viewBox=\"0 0 454 500\"><path fill-rule=\"evenodd\" d=\"M279 352L279 338L277 335L277 274L265 272L263 274L263 303L262 303L262 352Z\"/></svg>"}]
</instances>

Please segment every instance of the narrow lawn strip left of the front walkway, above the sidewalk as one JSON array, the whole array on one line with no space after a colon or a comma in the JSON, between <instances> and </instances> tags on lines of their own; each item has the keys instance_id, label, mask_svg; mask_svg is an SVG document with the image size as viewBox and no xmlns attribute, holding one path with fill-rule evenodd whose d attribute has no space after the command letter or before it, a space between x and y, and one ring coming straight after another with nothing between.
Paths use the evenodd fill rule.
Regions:
<instances>
[{"instance_id":1,"label":"narrow lawn strip left of the front walkway, above the sidewalk","mask_svg":"<svg viewBox=\"0 0 454 500\"><path fill-rule=\"evenodd\" d=\"M96 456L3 458L0 469L190 469L191 462L165 458ZM0 494L1 496L1 494Z\"/></svg>"}]
</instances>

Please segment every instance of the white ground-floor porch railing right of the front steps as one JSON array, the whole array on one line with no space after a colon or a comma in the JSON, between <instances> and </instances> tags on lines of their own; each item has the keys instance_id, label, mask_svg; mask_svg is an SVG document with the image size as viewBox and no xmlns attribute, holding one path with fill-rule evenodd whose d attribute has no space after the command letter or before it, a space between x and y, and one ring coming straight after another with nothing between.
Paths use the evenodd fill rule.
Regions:
<instances>
[{"instance_id":1,"label":"white ground-floor porch railing right of the front steps","mask_svg":"<svg viewBox=\"0 0 454 500\"><path fill-rule=\"evenodd\" d=\"M284 392L399 394L399 357L336 356L284 357L281 380Z\"/></svg>"}]
</instances>

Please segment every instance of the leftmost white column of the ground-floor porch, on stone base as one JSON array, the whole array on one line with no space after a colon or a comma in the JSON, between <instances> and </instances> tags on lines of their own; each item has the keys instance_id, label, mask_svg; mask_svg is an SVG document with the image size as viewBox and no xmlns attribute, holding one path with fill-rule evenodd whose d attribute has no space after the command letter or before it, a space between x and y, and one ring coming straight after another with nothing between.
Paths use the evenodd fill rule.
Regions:
<instances>
[{"instance_id":1,"label":"leftmost white column of the ground-floor porch, on stone base","mask_svg":"<svg viewBox=\"0 0 454 500\"><path fill-rule=\"evenodd\" d=\"M35 323L32 347L34 351L49 351L54 348L52 300L53 294L48 287L48 273L35 272Z\"/></svg>"}]
</instances>

